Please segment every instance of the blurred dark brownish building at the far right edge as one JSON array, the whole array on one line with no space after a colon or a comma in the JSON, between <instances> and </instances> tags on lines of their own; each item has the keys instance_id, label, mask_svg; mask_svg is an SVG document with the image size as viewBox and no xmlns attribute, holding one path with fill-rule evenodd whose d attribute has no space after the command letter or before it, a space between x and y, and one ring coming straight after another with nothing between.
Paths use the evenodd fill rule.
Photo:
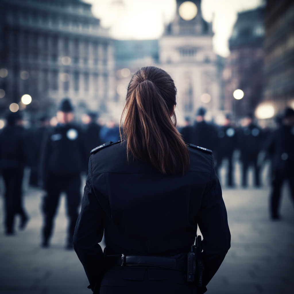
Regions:
<instances>
[{"instance_id":1,"label":"blurred dark brownish building at the far right edge","mask_svg":"<svg viewBox=\"0 0 294 294\"><path fill-rule=\"evenodd\" d=\"M294 108L294 1L268 0L265 27L263 96L281 112Z\"/></svg>"}]
</instances>

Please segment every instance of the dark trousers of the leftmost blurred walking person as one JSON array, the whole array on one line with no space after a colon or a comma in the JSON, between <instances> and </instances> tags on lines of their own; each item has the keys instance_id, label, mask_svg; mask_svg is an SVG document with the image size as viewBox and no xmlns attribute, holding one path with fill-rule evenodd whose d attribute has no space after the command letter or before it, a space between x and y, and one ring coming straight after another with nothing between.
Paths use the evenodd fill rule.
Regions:
<instances>
[{"instance_id":1,"label":"dark trousers of the leftmost blurred walking person","mask_svg":"<svg viewBox=\"0 0 294 294\"><path fill-rule=\"evenodd\" d=\"M24 168L3 170L2 176L5 183L5 227L7 233L12 233L15 216L19 214L21 218L26 218L21 197Z\"/></svg>"}]
</instances>

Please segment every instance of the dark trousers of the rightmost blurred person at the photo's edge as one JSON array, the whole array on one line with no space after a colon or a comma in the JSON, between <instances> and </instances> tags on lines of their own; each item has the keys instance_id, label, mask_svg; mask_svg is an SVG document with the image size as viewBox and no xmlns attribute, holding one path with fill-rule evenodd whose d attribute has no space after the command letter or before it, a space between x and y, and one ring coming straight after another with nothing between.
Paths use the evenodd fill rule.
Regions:
<instances>
[{"instance_id":1,"label":"dark trousers of the rightmost blurred person at the photo's edge","mask_svg":"<svg viewBox=\"0 0 294 294\"><path fill-rule=\"evenodd\" d=\"M281 199L281 188L285 180L289 181L290 192L294 201L294 174L292 173L287 176L283 176L280 173L275 172L273 174L272 193L270 195L270 213L273 218L276 218L279 215L278 211Z\"/></svg>"}]
</instances>

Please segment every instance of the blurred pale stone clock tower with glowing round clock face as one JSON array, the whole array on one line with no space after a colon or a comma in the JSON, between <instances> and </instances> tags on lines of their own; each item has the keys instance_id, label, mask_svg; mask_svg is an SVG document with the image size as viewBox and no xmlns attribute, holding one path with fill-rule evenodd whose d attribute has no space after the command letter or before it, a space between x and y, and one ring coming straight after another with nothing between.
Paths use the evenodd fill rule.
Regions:
<instances>
[{"instance_id":1,"label":"blurred pale stone clock tower with glowing round clock face","mask_svg":"<svg viewBox=\"0 0 294 294\"><path fill-rule=\"evenodd\" d=\"M201 0L177 0L176 17L166 27L158 45L160 67L171 74L178 89L180 124L185 117L194 118L200 106L212 114L220 108L212 37L212 24L202 18Z\"/></svg>"}]
</instances>

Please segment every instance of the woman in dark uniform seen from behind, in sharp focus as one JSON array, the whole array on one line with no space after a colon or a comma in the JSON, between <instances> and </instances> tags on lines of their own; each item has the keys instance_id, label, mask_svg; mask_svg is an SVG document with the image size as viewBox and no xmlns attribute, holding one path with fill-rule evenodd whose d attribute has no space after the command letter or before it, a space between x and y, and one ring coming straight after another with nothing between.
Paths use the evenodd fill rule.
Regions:
<instances>
[{"instance_id":1,"label":"woman in dark uniform seen from behind, in sharp focus","mask_svg":"<svg viewBox=\"0 0 294 294\"><path fill-rule=\"evenodd\" d=\"M212 153L184 143L173 123L175 104L169 74L141 68L128 86L123 142L91 151L74 248L95 294L204 293L230 248ZM197 223L201 283L186 267ZM189 270L196 258L190 261Z\"/></svg>"}]
</instances>

